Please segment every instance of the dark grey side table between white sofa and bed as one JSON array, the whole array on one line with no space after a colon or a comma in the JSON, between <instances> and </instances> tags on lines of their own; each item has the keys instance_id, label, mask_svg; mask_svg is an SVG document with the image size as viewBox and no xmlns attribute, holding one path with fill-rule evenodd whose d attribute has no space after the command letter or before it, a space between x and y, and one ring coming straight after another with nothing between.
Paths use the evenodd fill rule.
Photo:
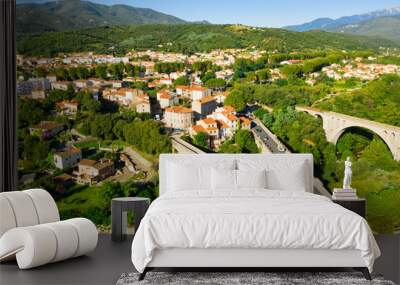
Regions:
<instances>
[{"instance_id":1,"label":"dark grey side table between white sofa and bed","mask_svg":"<svg viewBox=\"0 0 400 285\"><path fill-rule=\"evenodd\" d=\"M127 211L131 210L134 214L135 231L138 229L140 221L146 214L150 205L150 199L141 197L123 197L111 200L111 240L123 241L126 238L126 228L128 225Z\"/></svg>"}]
</instances>

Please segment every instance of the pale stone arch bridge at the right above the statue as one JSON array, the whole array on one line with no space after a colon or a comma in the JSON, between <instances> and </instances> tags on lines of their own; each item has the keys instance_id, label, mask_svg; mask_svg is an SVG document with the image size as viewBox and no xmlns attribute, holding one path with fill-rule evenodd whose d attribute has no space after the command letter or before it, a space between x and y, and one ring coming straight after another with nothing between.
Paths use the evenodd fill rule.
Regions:
<instances>
[{"instance_id":1,"label":"pale stone arch bridge at the right above the statue","mask_svg":"<svg viewBox=\"0 0 400 285\"><path fill-rule=\"evenodd\" d=\"M310 107L296 107L297 111L306 112L315 117L320 117L323 122L326 138L329 142L337 143L346 129L358 127L367 129L377 134L389 147L395 160L400 160L400 128L348 116L340 113L318 110Z\"/></svg>"}]
</instances>

